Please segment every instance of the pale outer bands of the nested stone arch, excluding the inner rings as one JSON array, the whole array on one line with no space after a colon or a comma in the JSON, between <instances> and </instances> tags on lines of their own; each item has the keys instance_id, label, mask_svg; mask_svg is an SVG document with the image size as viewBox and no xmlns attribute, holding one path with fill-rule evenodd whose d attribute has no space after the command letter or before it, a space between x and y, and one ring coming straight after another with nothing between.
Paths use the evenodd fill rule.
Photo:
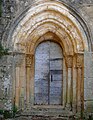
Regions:
<instances>
[{"instance_id":1,"label":"pale outer bands of the nested stone arch, excluding the inner rings","mask_svg":"<svg viewBox=\"0 0 93 120\"><path fill-rule=\"evenodd\" d=\"M59 24L60 26L61 24L60 26L61 28L65 29L67 33L71 33L70 35L71 37L73 37L73 39L77 39L77 40L73 40L73 42L76 42L76 46L74 49L77 49L77 47L79 45L81 46L82 44L82 50L79 50L79 51L83 51L83 49L90 50L91 42L89 42L90 39L88 35L86 35L84 30L86 26L84 27L81 25L81 23L84 23L84 21L83 20L80 21L81 17L75 14L75 11L73 14L72 11L73 10L69 9L68 5L58 1L54 1L54 2L46 1L43 4L40 3L37 5L31 6L21 16L19 16L18 18L19 20L17 20L16 24L12 26L10 34L8 36L7 44L9 45L11 40L13 43L12 45L14 46L15 46L15 43L18 43L18 42L20 43L21 41L25 42L25 39L26 39L26 42L29 41L29 36L31 36L31 32L34 29L38 28L41 25L44 25L45 22L52 21L53 24L55 24L54 26L56 26L56 24L57 25ZM88 28L86 29L88 30ZM17 38L16 38L16 35L17 35ZM24 37L24 39L22 37Z\"/></svg>"}]
</instances>

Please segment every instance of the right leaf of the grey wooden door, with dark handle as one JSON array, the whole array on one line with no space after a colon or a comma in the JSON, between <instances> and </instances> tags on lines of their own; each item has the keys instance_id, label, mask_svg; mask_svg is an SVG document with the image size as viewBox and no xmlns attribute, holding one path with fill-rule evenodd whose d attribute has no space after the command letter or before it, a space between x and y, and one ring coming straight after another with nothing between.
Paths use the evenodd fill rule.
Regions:
<instances>
[{"instance_id":1,"label":"right leaf of the grey wooden door, with dark handle","mask_svg":"<svg viewBox=\"0 0 93 120\"><path fill-rule=\"evenodd\" d=\"M61 104L62 98L62 49L50 42L50 104Z\"/></svg>"}]
</instances>

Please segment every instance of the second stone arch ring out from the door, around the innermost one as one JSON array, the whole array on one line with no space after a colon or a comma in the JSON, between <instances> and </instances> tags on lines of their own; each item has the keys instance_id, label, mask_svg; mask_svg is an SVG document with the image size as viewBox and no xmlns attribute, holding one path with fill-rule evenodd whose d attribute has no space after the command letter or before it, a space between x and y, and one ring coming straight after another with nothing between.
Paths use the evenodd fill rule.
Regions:
<instances>
[{"instance_id":1,"label":"second stone arch ring out from the door, around the innermost one","mask_svg":"<svg viewBox=\"0 0 93 120\"><path fill-rule=\"evenodd\" d=\"M71 42L71 38L70 38L69 34L67 34L65 32L65 30L62 30L62 28L57 29L57 26L55 27L55 25L53 23L52 24L51 23L46 23L44 25L41 25L37 29L35 29L32 32L32 34L29 36L29 39L32 40L32 42L30 42L30 43L31 44L32 43L36 44L37 41L39 40L39 38L42 37L47 32L51 32L51 33L57 35L60 38L60 41L64 46L64 48L63 48L64 52L66 54L69 54L69 52L70 52L70 54L73 54L74 49L73 49L73 44ZM48 39L48 37L46 39ZM59 39L57 39L57 42L60 42L60 41L59 41ZM29 40L28 40L28 42L29 42ZM30 48L30 51L32 51L31 48Z\"/></svg>"}]
</instances>

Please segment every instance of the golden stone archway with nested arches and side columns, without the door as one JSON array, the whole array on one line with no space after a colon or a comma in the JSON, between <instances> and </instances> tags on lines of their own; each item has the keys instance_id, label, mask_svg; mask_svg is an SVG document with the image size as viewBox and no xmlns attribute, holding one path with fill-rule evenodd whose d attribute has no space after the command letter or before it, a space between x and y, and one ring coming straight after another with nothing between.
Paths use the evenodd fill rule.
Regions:
<instances>
[{"instance_id":1,"label":"golden stone archway with nested arches and side columns, without the door","mask_svg":"<svg viewBox=\"0 0 93 120\"><path fill-rule=\"evenodd\" d=\"M83 53L90 49L89 43L79 21L64 4L57 1L32 6L12 31L13 52L23 54L23 59L15 67L16 105L24 108L26 102L28 107L34 106L35 50L47 40L57 42L63 49L62 106L83 109Z\"/></svg>"}]
</instances>

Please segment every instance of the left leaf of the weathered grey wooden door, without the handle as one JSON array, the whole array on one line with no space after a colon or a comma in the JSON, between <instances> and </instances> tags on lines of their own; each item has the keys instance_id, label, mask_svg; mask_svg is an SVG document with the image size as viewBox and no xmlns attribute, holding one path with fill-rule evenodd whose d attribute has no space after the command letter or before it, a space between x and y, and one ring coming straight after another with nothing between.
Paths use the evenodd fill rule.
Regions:
<instances>
[{"instance_id":1,"label":"left leaf of the weathered grey wooden door, without the handle","mask_svg":"<svg viewBox=\"0 0 93 120\"><path fill-rule=\"evenodd\" d=\"M35 104L48 104L49 42L35 53Z\"/></svg>"}]
</instances>

